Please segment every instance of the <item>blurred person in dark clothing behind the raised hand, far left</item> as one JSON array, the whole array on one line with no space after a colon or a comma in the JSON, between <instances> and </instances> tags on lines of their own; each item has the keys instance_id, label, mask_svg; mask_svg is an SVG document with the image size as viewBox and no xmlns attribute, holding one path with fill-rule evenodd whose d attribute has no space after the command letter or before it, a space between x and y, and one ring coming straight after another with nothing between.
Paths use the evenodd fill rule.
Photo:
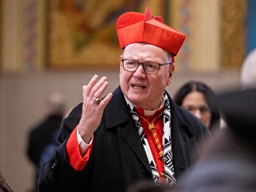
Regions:
<instances>
[{"instance_id":1,"label":"blurred person in dark clothing behind the raised hand, far left","mask_svg":"<svg viewBox=\"0 0 256 192\"><path fill-rule=\"evenodd\" d=\"M63 95L57 92L51 93L45 102L43 121L30 128L27 155L35 165L35 188L38 186L42 152L59 132L65 108Z\"/></svg>"}]
</instances>

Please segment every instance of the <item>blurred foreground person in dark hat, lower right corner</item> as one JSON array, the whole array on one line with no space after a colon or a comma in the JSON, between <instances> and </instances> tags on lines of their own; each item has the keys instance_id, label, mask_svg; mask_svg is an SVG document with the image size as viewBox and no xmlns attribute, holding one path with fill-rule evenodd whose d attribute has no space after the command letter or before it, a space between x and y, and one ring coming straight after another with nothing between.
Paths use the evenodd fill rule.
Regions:
<instances>
[{"instance_id":1,"label":"blurred foreground person in dark hat, lower right corner","mask_svg":"<svg viewBox=\"0 0 256 192\"><path fill-rule=\"evenodd\" d=\"M227 127L202 144L176 191L256 191L256 89L221 94L215 105Z\"/></svg>"}]
</instances>

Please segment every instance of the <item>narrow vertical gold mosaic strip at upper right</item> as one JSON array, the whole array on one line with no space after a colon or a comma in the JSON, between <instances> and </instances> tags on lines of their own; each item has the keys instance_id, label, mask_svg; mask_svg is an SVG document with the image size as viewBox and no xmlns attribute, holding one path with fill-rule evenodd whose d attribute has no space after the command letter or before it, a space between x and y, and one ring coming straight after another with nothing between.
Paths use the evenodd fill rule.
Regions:
<instances>
[{"instance_id":1,"label":"narrow vertical gold mosaic strip at upper right","mask_svg":"<svg viewBox=\"0 0 256 192\"><path fill-rule=\"evenodd\" d=\"M240 68L246 54L247 1L219 2L221 4L221 66Z\"/></svg>"}]
</instances>

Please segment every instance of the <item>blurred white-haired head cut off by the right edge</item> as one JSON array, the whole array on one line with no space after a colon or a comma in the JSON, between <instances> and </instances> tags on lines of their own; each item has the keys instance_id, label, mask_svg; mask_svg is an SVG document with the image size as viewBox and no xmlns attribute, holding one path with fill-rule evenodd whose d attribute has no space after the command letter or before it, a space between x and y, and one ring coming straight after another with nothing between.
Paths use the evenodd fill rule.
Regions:
<instances>
[{"instance_id":1,"label":"blurred white-haired head cut off by the right edge","mask_svg":"<svg viewBox=\"0 0 256 192\"><path fill-rule=\"evenodd\" d=\"M241 85L244 89L256 87L256 49L244 59L241 68Z\"/></svg>"}]
</instances>

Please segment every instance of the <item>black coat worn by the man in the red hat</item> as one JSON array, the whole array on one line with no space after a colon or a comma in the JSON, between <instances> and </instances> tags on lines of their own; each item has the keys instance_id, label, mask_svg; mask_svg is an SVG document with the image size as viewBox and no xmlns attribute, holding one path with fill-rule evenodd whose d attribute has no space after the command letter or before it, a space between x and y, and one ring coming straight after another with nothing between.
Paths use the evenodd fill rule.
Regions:
<instances>
[{"instance_id":1,"label":"black coat worn by the man in the red hat","mask_svg":"<svg viewBox=\"0 0 256 192\"><path fill-rule=\"evenodd\" d=\"M191 149L208 129L169 100L174 171L179 177L193 161ZM93 151L87 165L82 171L75 171L68 163L65 145L79 123L81 112L79 104L65 119L60 135L63 143L41 170L40 191L126 191L139 180L152 179L148 158L120 88L113 93L94 132Z\"/></svg>"}]
</instances>

